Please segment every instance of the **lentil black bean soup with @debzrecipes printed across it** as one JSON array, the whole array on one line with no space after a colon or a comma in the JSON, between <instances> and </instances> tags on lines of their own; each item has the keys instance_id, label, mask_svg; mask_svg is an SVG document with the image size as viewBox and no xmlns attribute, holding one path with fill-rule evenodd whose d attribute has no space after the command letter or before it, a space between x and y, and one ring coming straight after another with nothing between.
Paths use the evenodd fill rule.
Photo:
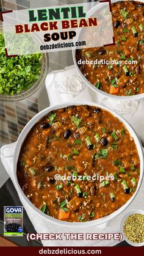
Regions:
<instances>
[{"instance_id":1,"label":"lentil black bean soup with @debzrecipes printed across it","mask_svg":"<svg viewBox=\"0 0 144 256\"><path fill-rule=\"evenodd\" d=\"M57 109L36 123L17 166L18 182L35 207L69 222L91 221L118 210L134 194L139 173L137 148L123 123L104 109L86 105ZM95 180L88 178L96 174ZM64 175L76 180L62 180Z\"/></svg>"}]
</instances>

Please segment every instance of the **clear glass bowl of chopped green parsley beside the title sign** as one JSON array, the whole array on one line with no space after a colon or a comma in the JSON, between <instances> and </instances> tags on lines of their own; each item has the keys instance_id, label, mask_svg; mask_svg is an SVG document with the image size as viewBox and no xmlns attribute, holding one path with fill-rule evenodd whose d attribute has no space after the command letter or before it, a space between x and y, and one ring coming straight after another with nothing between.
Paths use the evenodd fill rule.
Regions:
<instances>
[{"instance_id":1,"label":"clear glass bowl of chopped green parsley beside the title sign","mask_svg":"<svg viewBox=\"0 0 144 256\"><path fill-rule=\"evenodd\" d=\"M0 27L0 100L17 101L30 97L43 84L47 70L46 53L7 58Z\"/></svg>"}]
</instances>

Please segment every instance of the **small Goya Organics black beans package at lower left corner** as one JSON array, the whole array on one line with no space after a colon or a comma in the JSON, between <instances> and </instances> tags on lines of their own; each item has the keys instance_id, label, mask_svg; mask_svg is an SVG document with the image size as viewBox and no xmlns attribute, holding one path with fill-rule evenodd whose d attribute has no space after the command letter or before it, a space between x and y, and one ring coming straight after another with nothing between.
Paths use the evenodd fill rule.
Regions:
<instances>
[{"instance_id":1,"label":"small Goya Organics black beans package at lower left corner","mask_svg":"<svg viewBox=\"0 0 144 256\"><path fill-rule=\"evenodd\" d=\"M23 236L23 207L4 207L4 236Z\"/></svg>"}]
</instances>

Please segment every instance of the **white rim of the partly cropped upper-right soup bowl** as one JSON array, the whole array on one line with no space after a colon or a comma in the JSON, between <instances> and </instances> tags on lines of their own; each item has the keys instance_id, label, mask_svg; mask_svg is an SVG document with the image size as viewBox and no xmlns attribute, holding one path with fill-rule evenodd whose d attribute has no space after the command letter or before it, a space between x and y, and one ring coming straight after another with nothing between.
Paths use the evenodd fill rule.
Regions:
<instances>
[{"instance_id":1,"label":"white rim of the partly cropped upper-right soup bowl","mask_svg":"<svg viewBox=\"0 0 144 256\"><path fill-rule=\"evenodd\" d=\"M130 0L132 1L132 0ZM144 2L144 0L134 0L135 2ZM113 2L120 2L120 0L111 0L111 3ZM88 16L91 16L94 12L96 12L96 10L101 9L101 4L105 4L103 3L99 3L97 4L95 7L93 7L89 12L88 12ZM81 32L79 32L80 34ZM73 48L73 61L74 61L74 65L76 67L76 70L78 71L79 75L81 76L82 80L85 82L85 84L87 84L88 87L90 87L93 91L99 93L100 95L102 95L103 97L107 97L107 98L112 98L113 100L139 100L140 98L144 97L144 93L140 93L137 95L133 95L133 96L117 96L117 95L112 95L110 93L104 92L103 90L99 90L98 88L96 88L95 86L93 86L93 84L91 84L87 78L85 78L85 76L82 74L81 70L79 69L78 65L77 65L77 61L76 61L76 48Z\"/></svg>"}]
</instances>

